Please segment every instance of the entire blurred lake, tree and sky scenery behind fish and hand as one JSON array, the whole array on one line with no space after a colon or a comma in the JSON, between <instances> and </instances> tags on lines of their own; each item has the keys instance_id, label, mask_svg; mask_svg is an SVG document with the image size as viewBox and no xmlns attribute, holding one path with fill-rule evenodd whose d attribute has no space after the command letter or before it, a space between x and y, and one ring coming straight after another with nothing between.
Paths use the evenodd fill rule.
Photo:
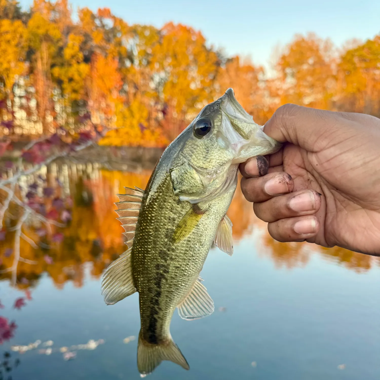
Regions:
<instances>
[{"instance_id":1,"label":"entire blurred lake, tree and sky scenery behind fish and hand","mask_svg":"<svg viewBox=\"0 0 380 380\"><path fill-rule=\"evenodd\" d=\"M262 125L285 103L380 116L380 3L0 0L0 380L132 379L138 296L106 307L113 211L233 87ZM279 243L235 193L204 320L175 313L185 372L156 379L378 379L380 260Z\"/></svg>"}]
</instances>

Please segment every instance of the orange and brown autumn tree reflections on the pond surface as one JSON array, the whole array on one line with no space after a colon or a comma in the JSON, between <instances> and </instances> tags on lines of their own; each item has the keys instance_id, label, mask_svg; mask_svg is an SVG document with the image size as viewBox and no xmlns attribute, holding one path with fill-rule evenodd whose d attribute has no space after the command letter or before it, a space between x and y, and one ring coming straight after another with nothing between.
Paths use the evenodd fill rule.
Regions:
<instances>
[{"instance_id":1,"label":"orange and brown autumn tree reflections on the pond surface","mask_svg":"<svg viewBox=\"0 0 380 380\"><path fill-rule=\"evenodd\" d=\"M99 278L106 266L123 252L123 229L116 220L113 203L118 200L116 194L123 193L123 186L145 188L150 171L112 171L101 169L96 163L62 162L44 167L34 176L24 178L20 183L19 193L27 196L28 187L33 186L41 175L44 176L48 188L59 195L59 198L52 200L51 196L44 196L44 190L41 189L44 207L47 210L60 199L67 207L66 226L52 225L50 230L43 230L41 233L41 223L38 220L33 217L27 220L22 230L27 238L20 241L20 250L26 262L18 263L16 286L22 290L35 287L38 279L46 272L58 288L62 288L67 281L81 287L84 263L91 263L91 275ZM38 193L39 189L35 188L35 191ZM21 207L12 205L8 211L4 223L8 230L12 230L22 210ZM61 219L62 215L65 214L61 214ZM239 187L228 216L233 223L235 244L254 232L258 252L261 256L270 257L277 267L304 266L311 252L318 252L323 257L358 272L367 271L380 264L372 256L339 247L326 249L306 243L275 241L267 233L265 223L255 217L252 204L244 199ZM15 233L9 231L3 236L0 247L0 270L3 273L0 279L10 280L15 275L12 271L7 271L13 265Z\"/></svg>"}]
</instances>

